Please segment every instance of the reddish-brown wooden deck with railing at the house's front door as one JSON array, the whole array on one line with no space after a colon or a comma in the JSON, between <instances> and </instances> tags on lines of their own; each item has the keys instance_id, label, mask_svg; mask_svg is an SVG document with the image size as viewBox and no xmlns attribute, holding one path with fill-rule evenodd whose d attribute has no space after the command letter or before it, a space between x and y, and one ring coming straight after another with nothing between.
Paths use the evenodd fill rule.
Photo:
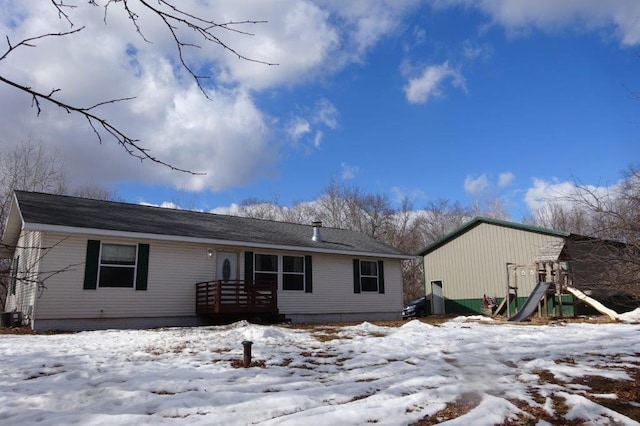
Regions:
<instances>
[{"instance_id":1,"label":"reddish-brown wooden deck with railing at the house's front door","mask_svg":"<svg viewBox=\"0 0 640 426\"><path fill-rule=\"evenodd\" d=\"M277 283L259 281L196 283L196 314L212 319L277 318Z\"/></svg>"}]
</instances>

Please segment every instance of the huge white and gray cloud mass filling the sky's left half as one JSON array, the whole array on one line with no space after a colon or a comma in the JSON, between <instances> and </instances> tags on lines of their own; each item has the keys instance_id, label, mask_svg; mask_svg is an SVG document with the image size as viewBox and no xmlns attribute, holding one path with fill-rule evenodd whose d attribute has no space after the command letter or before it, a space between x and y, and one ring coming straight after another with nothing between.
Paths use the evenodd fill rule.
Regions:
<instances>
[{"instance_id":1,"label":"huge white and gray cloud mass filling the sky's left half","mask_svg":"<svg viewBox=\"0 0 640 426\"><path fill-rule=\"evenodd\" d=\"M99 144L79 116L43 103L36 117L31 99L6 85L0 85L0 147L24 138L24 129L35 129L30 133L61 151L71 179L103 185L127 180L193 191L223 190L272 175L286 149L278 134L289 131L293 138L308 137L317 148L327 139L326 129L339 126L339 112L320 98L307 114L299 115L300 121L287 122L261 110L257 94L325 79L361 62L373 46L397 30L418 2L193 0L183 4L195 15L219 22L267 21L238 27L255 36L224 30L219 36L244 56L279 65L239 60L219 47L206 48L190 31L181 33L185 41L203 46L185 47L184 53L194 70L214 77L205 82L212 98L207 100L177 65L174 41L157 16L137 3L130 5L139 15L147 42L136 33L122 3L111 3L106 25L102 7L78 3L69 9L70 18L74 28L86 25L85 29L13 52L3 61L2 75L43 93L59 88L64 100L80 106L135 96L96 112L139 139L140 146L156 158L206 175L140 164L108 136ZM68 22L59 19L50 3L10 2L0 8L0 33L13 43L66 30Z\"/></svg>"}]
</instances>

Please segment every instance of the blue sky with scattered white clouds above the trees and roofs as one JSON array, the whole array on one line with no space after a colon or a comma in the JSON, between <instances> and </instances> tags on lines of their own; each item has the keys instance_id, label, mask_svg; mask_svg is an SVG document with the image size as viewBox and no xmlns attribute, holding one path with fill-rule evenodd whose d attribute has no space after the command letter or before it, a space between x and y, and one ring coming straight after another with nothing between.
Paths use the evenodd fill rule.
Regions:
<instances>
[{"instance_id":1,"label":"blue sky with scattered white clouds above the trees and roofs","mask_svg":"<svg viewBox=\"0 0 640 426\"><path fill-rule=\"evenodd\" d=\"M50 5L0 4L12 40L64 27ZM192 7L267 20L250 28L254 37L227 40L279 65L198 52L190 60L214 77L208 101L170 66L174 52L158 22L144 21L147 38L156 37L149 45L112 7L108 25L89 25L83 42L43 43L38 55L16 55L4 69L0 62L0 74L59 85L85 103L134 94L105 113L159 158L206 176L140 165L53 107L34 117L30 99L6 87L0 144L43 140L60 151L73 182L111 186L131 202L204 210L247 198L289 205L313 200L333 178L409 197L415 208L440 198L500 197L514 220L574 180L610 186L639 163L640 100L631 96L640 91L636 1ZM72 18L91 23L101 16L93 9L83 3ZM51 19L36 19L43 13ZM25 17L19 25L16 15Z\"/></svg>"}]
</instances>

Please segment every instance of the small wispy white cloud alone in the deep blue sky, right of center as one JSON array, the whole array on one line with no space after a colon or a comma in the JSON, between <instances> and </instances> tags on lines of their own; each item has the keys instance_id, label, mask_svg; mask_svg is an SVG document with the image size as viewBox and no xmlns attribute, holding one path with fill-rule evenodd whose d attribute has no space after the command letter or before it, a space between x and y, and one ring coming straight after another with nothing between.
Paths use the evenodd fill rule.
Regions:
<instances>
[{"instance_id":1,"label":"small wispy white cloud alone in the deep blue sky, right of center","mask_svg":"<svg viewBox=\"0 0 640 426\"><path fill-rule=\"evenodd\" d=\"M426 103L430 98L442 95L442 86L446 80L451 80L454 87L466 90L465 80L460 70L444 62L424 68L417 77L409 78L404 86L407 101L410 103Z\"/></svg>"}]
</instances>

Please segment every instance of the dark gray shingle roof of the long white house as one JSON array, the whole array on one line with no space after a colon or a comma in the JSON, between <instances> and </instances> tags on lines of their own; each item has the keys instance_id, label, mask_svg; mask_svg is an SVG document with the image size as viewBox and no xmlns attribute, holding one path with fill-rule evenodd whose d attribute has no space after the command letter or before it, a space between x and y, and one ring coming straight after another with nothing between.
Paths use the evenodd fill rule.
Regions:
<instances>
[{"instance_id":1,"label":"dark gray shingle roof of the long white house","mask_svg":"<svg viewBox=\"0 0 640 426\"><path fill-rule=\"evenodd\" d=\"M322 242L311 240L313 227L188 210L16 191L26 224L154 234L301 250L358 252L410 257L355 231L322 228ZM37 229L37 226L34 226Z\"/></svg>"}]
</instances>

